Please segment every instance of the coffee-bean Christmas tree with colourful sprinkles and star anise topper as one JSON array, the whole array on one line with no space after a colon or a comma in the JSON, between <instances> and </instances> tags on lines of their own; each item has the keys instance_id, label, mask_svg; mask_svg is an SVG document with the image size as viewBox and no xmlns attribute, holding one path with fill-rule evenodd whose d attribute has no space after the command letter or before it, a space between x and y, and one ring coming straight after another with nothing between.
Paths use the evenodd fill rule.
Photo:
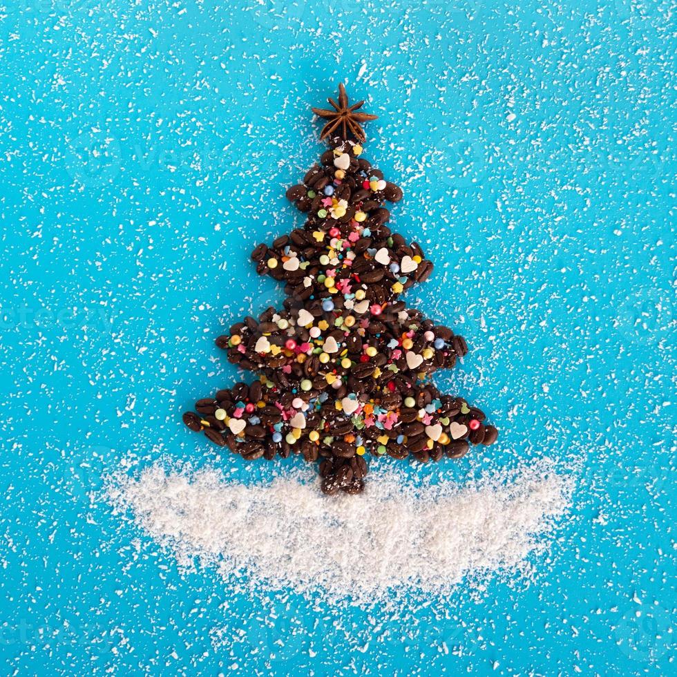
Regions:
<instances>
[{"instance_id":1,"label":"coffee-bean Christmas tree with colourful sprinkles and star anise topper","mask_svg":"<svg viewBox=\"0 0 677 677\"><path fill-rule=\"evenodd\" d=\"M497 430L481 410L431 381L468 352L466 341L407 308L399 295L432 271L416 242L386 226L402 191L363 158L361 124L374 115L339 85L327 120L330 148L287 198L302 228L261 244L259 274L285 283L283 308L246 317L216 344L259 379L198 400L184 423L247 460L320 460L322 489L360 493L366 459L460 458Z\"/></svg>"}]
</instances>

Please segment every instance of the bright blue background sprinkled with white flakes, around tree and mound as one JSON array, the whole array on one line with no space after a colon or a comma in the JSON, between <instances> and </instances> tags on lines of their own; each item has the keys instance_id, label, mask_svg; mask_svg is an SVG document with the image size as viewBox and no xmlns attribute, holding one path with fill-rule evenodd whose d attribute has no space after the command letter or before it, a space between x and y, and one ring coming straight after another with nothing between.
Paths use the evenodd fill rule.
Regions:
<instances>
[{"instance_id":1,"label":"bright blue background sprinkled with white flakes, around tree and mound","mask_svg":"<svg viewBox=\"0 0 677 677\"><path fill-rule=\"evenodd\" d=\"M6 2L3 673L674 673L668 8ZM537 584L408 622L263 608L88 498L129 454L273 472L216 456L180 413L236 377L222 327L283 298L249 251L300 222L284 190L339 79L379 115L366 156L405 190L394 227L436 264L408 301L470 343L439 381L502 430L481 464L580 464Z\"/></svg>"}]
</instances>

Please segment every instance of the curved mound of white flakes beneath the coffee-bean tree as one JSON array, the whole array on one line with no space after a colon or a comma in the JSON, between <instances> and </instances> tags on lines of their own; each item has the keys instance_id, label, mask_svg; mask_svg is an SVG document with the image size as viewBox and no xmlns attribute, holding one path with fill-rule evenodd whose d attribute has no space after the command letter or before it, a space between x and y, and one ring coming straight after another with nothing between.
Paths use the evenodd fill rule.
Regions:
<instances>
[{"instance_id":1,"label":"curved mound of white flakes beneath the coffee-bean tree","mask_svg":"<svg viewBox=\"0 0 677 677\"><path fill-rule=\"evenodd\" d=\"M183 569L199 562L251 589L371 605L528 570L569 504L570 476L553 468L542 461L460 486L411 486L381 468L362 495L327 497L305 474L247 486L213 468L155 464L117 477L107 495Z\"/></svg>"}]
</instances>

